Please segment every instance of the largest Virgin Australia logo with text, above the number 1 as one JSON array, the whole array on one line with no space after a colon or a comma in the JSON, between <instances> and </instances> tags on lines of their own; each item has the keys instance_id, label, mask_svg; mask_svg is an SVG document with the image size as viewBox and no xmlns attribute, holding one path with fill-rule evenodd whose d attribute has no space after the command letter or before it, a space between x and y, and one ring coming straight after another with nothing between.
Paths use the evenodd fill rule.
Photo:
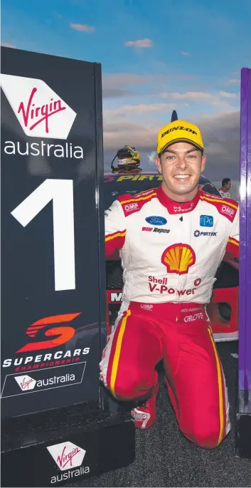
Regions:
<instances>
[{"instance_id":1,"label":"largest Virgin Australia logo with text, above the number 1","mask_svg":"<svg viewBox=\"0 0 251 488\"><path fill-rule=\"evenodd\" d=\"M1 74L1 88L28 137L68 138L77 114L43 80ZM83 158L82 147L73 146L71 142L6 140L4 152L6 155Z\"/></svg>"}]
</instances>

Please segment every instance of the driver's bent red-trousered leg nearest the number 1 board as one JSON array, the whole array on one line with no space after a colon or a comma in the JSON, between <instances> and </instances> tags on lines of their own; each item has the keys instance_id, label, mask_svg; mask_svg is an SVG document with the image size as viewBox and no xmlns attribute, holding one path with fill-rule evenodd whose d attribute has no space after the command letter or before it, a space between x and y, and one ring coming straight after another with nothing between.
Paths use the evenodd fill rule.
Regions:
<instances>
[{"instance_id":1,"label":"driver's bent red-trousered leg nearest the number 1 board","mask_svg":"<svg viewBox=\"0 0 251 488\"><path fill-rule=\"evenodd\" d=\"M119 400L144 400L156 386L162 333L149 318L129 306L108 338L100 379Z\"/></svg>"}]
</instances>

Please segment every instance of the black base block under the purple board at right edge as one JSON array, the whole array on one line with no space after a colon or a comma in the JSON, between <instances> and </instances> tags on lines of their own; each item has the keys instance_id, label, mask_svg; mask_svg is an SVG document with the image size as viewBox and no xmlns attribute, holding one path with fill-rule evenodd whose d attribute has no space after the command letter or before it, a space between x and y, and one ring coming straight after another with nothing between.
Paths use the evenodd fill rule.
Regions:
<instances>
[{"instance_id":1,"label":"black base block under the purple board at right edge","mask_svg":"<svg viewBox=\"0 0 251 488\"><path fill-rule=\"evenodd\" d=\"M251 414L237 413L236 415L236 454L239 457L251 459Z\"/></svg>"}]
</instances>

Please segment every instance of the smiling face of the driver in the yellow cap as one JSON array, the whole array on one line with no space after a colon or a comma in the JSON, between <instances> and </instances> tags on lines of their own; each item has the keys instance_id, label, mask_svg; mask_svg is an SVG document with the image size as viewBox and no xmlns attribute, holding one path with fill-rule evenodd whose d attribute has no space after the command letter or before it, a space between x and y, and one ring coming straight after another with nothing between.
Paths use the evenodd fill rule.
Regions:
<instances>
[{"instance_id":1,"label":"smiling face of the driver in the yellow cap","mask_svg":"<svg viewBox=\"0 0 251 488\"><path fill-rule=\"evenodd\" d=\"M205 167L206 157L188 142L176 142L155 158L159 172L169 192L186 195L198 185L201 172Z\"/></svg>"}]
</instances>

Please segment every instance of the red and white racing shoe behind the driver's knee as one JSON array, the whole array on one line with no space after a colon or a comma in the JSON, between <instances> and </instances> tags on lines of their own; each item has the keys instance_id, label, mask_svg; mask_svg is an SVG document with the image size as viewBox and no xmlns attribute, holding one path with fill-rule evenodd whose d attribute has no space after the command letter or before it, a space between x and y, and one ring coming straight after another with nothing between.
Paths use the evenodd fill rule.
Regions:
<instances>
[{"instance_id":1,"label":"red and white racing shoe behind the driver's knee","mask_svg":"<svg viewBox=\"0 0 251 488\"><path fill-rule=\"evenodd\" d=\"M144 403L140 403L133 410L131 410L134 424L137 429L149 429L156 420L156 398L159 392L159 383L156 384L154 392L151 397Z\"/></svg>"}]
</instances>

